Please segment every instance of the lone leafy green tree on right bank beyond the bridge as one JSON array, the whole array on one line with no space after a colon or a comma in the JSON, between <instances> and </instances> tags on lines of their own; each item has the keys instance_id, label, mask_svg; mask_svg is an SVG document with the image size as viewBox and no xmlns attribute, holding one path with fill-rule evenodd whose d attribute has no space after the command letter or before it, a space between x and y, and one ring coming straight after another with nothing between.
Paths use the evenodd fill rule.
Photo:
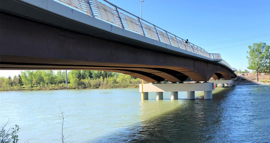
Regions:
<instances>
[{"instance_id":1,"label":"lone leafy green tree on right bank beyond the bridge","mask_svg":"<svg viewBox=\"0 0 270 143\"><path fill-rule=\"evenodd\" d=\"M251 70L256 70L257 81L259 81L259 73L270 72L270 46L266 45L266 43L264 42L260 42L254 43L252 47L248 46L248 48L249 51L247 51L247 53L249 54L249 56L247 56L247 59L249 66L247 68Z\"/></svg>"}]
</instances>

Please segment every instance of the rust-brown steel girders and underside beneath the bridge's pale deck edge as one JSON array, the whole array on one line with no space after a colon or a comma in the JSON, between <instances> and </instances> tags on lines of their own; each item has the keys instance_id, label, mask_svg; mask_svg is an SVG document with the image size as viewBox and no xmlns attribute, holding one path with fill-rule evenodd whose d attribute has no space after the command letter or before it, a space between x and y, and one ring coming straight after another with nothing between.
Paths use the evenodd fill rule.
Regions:
<instances>
[{"instance_id":1,"label":"rust-brown steel girders and underside beneath the bridge's pale deck edge","mask_svg":"<svg viewBox=\"0 0 270 143\"><path fill-rule=\"evenodd\" d=\"M148 82L230 79L217 62L81 34L1 12L1 70L104 70Z\"/></svg>"}]
</instances>

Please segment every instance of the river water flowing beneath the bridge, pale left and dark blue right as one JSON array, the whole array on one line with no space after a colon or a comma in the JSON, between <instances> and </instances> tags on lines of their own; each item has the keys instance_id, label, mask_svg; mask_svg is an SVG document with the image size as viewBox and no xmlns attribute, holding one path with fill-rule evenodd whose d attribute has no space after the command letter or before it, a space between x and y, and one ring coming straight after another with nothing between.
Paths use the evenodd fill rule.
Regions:
<instances>
[{"instance_id":1,"label":"river water flowing beneath the bridge, pale left and dark blue right","mask_svg":"<svg viewBox=\"0 0 270 143\"><path fill-rule=\"evenodd\" d=\"M19 142L270 142L270 86L216 88L213 100L141 100L138 88L0 93L0 123ZM54 116L55 115L55 116ZM72 115L72 116L69 116Z\"/></svg>"}]
</instances>

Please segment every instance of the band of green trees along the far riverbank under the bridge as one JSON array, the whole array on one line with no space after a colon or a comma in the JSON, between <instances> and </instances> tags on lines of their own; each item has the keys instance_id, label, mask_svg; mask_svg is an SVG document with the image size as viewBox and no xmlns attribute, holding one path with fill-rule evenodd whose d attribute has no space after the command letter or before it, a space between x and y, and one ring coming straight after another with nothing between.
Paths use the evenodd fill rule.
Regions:
<instances>
[{"instance_id":1,"label":"band of green trees along the far riverbank under the bridge","mask_svg":"<svg viewBox=\"0 0 270 143\"><path fill-rule=\"evenodd\" d=\"M71 70L68 72L68 87L65 87L65 71L25 70L18 76L0 77L2 90L50 90L83 88L123 88L138 87L141 79L133 76L91 70Z\"/></svg>"}]
</instances>

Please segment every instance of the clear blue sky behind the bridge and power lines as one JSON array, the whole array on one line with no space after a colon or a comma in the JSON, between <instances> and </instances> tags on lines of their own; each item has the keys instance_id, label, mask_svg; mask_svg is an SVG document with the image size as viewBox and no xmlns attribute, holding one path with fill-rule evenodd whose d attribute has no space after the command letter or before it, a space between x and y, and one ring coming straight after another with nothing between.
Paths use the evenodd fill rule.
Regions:
<instances>
[{"instance_id":1,"label":"clear blue sky behind the bridge and power lines","mask_svg":"<svg viewBox=\"0 0 270 143\"><path fill-rule=\"evenodd\" d=\"M108 1L140 16L140 0ZM222 59L238 70L241 62L243 69L247 69L246 51L248 45L252 45L249 43L263 41L270 45L269 0L145 0L142 3L142 13L146 21L183 39L189 39L198 46L202 44L201 47L209 53L220 53ZM0 76L14 76L19 73L20 71L1 70Z\"/></svg>"}]
</instances>

